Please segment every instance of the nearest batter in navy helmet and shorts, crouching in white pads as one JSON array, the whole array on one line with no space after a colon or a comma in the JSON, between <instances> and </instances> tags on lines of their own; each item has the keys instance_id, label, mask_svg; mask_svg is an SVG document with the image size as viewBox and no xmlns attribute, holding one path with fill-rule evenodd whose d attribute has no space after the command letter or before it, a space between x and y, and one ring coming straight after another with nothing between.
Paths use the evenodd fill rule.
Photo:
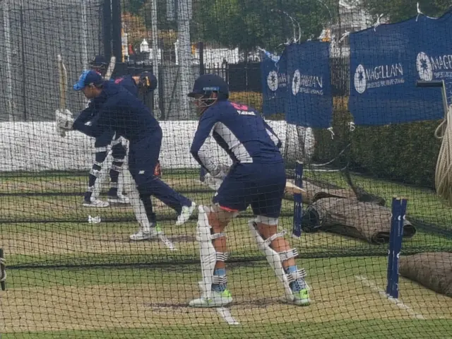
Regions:
<instances>
[{"instance_id":1,"label":"nearest batter in navy helmet and shorts, crouching in white pads","mask_svg":"<svg viewBox=\"0 0 452 339\"><path fill-rule=\"evenodd\" d=\"M249 220L249 229L283 283L285 301L308 305L306 273L295 263L297 249L290 248L285 232L278 232L286 182L280 139L258 112L228 100L229 88L220 76L206 74L197 78L189 97L194 98L201 114L191 154L212 177L223 179L213 205L198 206L201 297L191 300L189 306L219 307L232 302L227 290L223 231L250 205L255 218ZM230 155L230 169L216 164L206 152L204 146L210 136Z\"/></svg>"}]
</instances>

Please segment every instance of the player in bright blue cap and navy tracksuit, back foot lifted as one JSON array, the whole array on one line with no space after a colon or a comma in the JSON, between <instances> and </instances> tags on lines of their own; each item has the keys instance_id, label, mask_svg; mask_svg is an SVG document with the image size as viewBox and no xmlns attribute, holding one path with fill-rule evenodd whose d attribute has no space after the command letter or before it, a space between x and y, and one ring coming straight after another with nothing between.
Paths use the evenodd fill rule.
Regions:
<instances>
[{"instance_id":1,"label":"player in bright blue cap and navy tracksuit, back foot lifted","mask_svg":"<svg viewBox=\"0 0 452 339\"><path fill-rule=\"evenodd\" d=\"M138 190L131 189L130 202L141 225L130 239L140 241L162 233L157 226L150 196L155 196L176 210L178 222L186 222L194 209L194 202L178 194L154 175L162 143L162 129L148 107L128 90L105 81L95 71L84 71L73 88L81 90L85 97L92 100L90 107L95 113L90 124L83 124L74 121L70 112L61 114L57 110L57 124L61 129L81 131L94 138L110 133L115 138L121 136L129 141L129 172ZM141 206L145 210L144 217ZM183 210L183 206L187 208Z\"/></svg>"}]
</instances>

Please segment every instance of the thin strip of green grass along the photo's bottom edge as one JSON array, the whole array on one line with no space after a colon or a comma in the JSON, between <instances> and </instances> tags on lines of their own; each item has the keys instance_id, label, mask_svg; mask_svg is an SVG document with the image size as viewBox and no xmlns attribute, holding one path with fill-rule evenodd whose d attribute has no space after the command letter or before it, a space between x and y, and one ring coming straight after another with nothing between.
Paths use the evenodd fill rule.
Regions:
<instances>
[{"instance_id":1,"label":"thin strip of green grass along the photo's bottom edge","mask_svg":"<svg viewBox=\"0 0 452 339\"><path fill-rule=\"evenodd\" d=\"M285 323L283 325L239 326L161 326L159 328L111 328L104 331L54 331L6 334L5 339L66 338L450 338L452 321L448 320L369 320L326 321L322 323Z\"/></svg>"}]
</instances>

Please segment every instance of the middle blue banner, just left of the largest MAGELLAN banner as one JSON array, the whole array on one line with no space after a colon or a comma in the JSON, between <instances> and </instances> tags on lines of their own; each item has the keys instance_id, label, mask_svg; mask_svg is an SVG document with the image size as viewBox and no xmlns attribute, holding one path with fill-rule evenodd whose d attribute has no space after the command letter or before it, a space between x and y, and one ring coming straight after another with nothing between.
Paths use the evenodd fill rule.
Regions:
<instances>
[{"instance_id":1,"label":"middle blue banner, just left of the largest MAGELLAN banner","mask_svg":"<svg viewBox=\"0 0 452 339\"><path fill-rule=\"evenodd\" d=\"M308 41L285 49L287 74L286 120L290 124L328 129L331 126L330 43Z\"/></svg>"}]
</instances>

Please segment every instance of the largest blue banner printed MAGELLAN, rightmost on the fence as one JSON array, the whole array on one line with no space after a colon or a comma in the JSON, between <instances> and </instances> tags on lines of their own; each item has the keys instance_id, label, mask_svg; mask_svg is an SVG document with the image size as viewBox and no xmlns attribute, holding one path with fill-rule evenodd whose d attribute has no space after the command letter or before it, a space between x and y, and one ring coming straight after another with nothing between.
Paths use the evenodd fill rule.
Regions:
<instances>
[{"instance_id":1,"label":"largest blue banner printed MAGELLAN, rightmost on the fence","mask_svg":"<svg viewBox=\"0 0 452 339\"><path fill-rule=\"evenodd\" d=\"M444 25L441 32L439 24ZM435 69L436 61L431 57L448 62L444 56L451 51L451 32L447 15L439 19L417 16L350 34L349 109L355 124L400 124L444 117L441 91L417 88L416 81L421 76L434 78L434 70L436 75L444 75L444 69Z\"/></svg>"}]
</instances>

